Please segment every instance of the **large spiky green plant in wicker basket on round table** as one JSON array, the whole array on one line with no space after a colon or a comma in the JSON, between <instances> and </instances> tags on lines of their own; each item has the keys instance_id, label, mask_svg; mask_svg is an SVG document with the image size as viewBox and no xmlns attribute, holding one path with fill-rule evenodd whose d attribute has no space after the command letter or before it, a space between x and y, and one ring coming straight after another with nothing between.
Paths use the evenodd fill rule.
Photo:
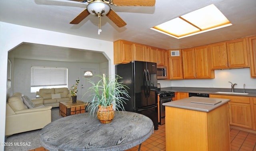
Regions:
<instances>
[{"instance_id":1,"label":"large spiky green plant in wicker basket on round table","mask_svg":"<svg viewBox=\"0 0 256 151\"><path fill-rule=\"evenodd\" d=\"M90 94L87 102L89 105L86 110L90 114L97 112L97 117L101 123L110 123L114 118L113 105L118 111L125 110L124 100L128 100L126 97L130 98L126 90L128 87L122 82L118 82L118 79L122 78L118 75L115 75L115 78L106 77L105 74L95 76L99 78L99 81L93 82L89 79L92 86L86 92Z\"/></svg>"}]
</instances>

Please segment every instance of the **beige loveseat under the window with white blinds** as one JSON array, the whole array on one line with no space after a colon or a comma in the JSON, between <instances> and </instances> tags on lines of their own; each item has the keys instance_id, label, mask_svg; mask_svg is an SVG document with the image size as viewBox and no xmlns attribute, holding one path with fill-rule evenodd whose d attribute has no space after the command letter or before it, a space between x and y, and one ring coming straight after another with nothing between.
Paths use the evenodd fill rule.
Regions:
<instances>
[{"instance_id":1,"label":"beige loveseat under the window with white blinds","mask_svg":"<svg viewBox=\"0 0 256 151\"><path fill-rule=\"evenodd\" d=\"M59 102L70 101L71 94L68 88L41 88L36 98L44 99L44 106L59 107Z\"/></svg>"}]
</instances>

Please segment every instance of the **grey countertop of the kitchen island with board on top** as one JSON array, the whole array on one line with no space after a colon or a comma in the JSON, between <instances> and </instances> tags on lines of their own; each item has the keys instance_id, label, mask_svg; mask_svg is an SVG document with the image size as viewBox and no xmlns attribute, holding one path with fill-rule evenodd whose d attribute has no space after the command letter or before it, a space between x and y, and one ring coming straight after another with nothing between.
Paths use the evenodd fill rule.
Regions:
<instances>
[{"instance_id":1,"label":"grey countertop of the kitchen island with board on top","mask_svg":"<svg viewBox=\"0 0 256 151\"><path fill-rule=\"evenodd\" d=\"M188 110L196 110L202 112L210 112L219 106L229 102L230 99L221 98L204 98L192 96L189 98L180 99L177 101L163 103L164 106L170 106L175 108L183 108ZM214 104L214 105L213 105Z\"/></svg>"}]
</instances>

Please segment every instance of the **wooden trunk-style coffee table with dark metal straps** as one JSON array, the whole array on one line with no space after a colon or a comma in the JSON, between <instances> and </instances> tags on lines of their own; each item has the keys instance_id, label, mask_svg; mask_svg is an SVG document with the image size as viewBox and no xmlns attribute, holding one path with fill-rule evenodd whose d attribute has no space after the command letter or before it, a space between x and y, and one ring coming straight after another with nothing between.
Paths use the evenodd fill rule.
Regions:
<instances>
[{"instance_id":1,"label":"wooden trunk-style coffee table with dark metal straps","mask_svg":"<svg viewBox=\"0 0 256 151\"><path fill-rule=\"evenodd\" d=\"M87 103L80 100L76 100L76 103L72 103L72 101L60 102L60 115L66 117L85 113L86 106Z\"/></svg>"}]
</instances>

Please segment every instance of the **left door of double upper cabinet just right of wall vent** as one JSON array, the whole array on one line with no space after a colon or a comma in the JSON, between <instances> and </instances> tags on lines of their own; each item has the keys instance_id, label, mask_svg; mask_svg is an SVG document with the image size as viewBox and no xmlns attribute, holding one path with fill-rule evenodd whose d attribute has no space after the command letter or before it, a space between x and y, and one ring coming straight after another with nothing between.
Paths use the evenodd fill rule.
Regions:
<instances>
[{"instance_id":1,"label":"left door of double upper cabinet just right of wall vent","mask_svg":"<svg viewBox=\"0 0 256 151\"><path fill-rule=\"evenodd\" d=\"M182 50L183 78L196 78L196 65L194 48Z\"/></svg>"}]
</instances>

